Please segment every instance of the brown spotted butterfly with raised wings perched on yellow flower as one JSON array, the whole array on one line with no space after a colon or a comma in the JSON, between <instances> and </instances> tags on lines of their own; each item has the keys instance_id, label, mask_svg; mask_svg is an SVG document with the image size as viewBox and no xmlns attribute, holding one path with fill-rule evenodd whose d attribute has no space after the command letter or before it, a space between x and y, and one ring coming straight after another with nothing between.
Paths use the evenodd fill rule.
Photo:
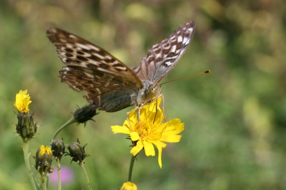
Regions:
<instances>
[{"instance_id":1,"label":"brown spotted butterfly with raised wings perched on yellow flower","mask_svg":"<svg viewBox=\"0 0 286 190\"><path fill-rule=\"evenodd\" d=\"M149 48L137 67L129 68L106 50L74 34L50 26L47 37L66 64L61 82L84 98L93 109L117 112L131 105L141 107L158 98L158 84L178 63L194 36L195 22L188 21L170 36Z\"/></svg>"}]
</instances>

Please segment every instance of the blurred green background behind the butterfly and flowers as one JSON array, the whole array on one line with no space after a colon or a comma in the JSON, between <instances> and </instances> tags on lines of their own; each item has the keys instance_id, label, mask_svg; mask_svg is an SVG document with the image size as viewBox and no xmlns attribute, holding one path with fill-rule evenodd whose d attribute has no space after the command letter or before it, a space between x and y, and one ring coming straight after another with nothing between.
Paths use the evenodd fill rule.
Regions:
<instances>
[{"instance_id":1,"label":"blurred green background behind the butterfly and flowers","mask_svg":"<svg viewBox=\"0 0 286 190\"><path fill-rule=\"evenodd\" d=\"M285 1L0 3L0 189L31 189L22 141L14 138L11 124L17 122L16 93L28 89L30 110L40 125L31 155L50 143L76 105L86 103L84 92L60 83L64 64L46 37L49 25L103 47L132 67L148 47L189 20L196 22L193 41L162 83L211 72L162 86L165 114L185 123L182 140L163 149L162 169L157 155L139 153L133 182L141 190L286 189ZM66 144L77 138L88 143L91 157L85 166L93 189L117 189L127 181L131 143L110 126L122 125L131 108L100 112L96 122L70 126L58 136ZM62 189L87 189L75 162L70 165L66 157L62 167L74 173ZM57 184L49 185L57 189Z\"/></svg>"}]
</instances>

